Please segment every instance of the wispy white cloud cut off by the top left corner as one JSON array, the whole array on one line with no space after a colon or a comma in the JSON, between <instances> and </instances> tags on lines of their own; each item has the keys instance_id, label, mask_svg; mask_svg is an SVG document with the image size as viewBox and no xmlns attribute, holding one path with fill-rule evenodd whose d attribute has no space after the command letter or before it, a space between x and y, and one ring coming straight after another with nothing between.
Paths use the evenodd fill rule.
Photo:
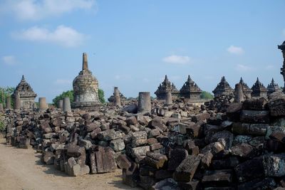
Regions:
<instances>
[{"instance_id":1,"label":"wispy white cloud cut off by the top left corner","mask_svg":"<svg viewBox=\"0 0 285 190\"><path fill-rule=\"evenodd\" d=\"M95 0L6 0L0 11L20 20L39 20L58 16L78 9L96 10Z\"/></svg>"}]
</instances>

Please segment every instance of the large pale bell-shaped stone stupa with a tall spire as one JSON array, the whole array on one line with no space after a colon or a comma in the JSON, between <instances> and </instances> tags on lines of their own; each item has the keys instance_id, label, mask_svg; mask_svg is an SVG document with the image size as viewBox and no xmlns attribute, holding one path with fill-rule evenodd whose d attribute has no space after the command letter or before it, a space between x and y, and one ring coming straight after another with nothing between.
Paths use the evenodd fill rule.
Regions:
<instances>
[{"instance_id":1,"label":"large pale bell-shaped stone stupa with a tall spire","mask_svg":"<svg viewBox=\"0 0 285 190\"><path fill-rule=\"evenodd\" d=\"M73 80L73 108L88 108L100 105L98 80L88 69L87 54L83 53L82 70Z\"/></svg>"}]
</instances>

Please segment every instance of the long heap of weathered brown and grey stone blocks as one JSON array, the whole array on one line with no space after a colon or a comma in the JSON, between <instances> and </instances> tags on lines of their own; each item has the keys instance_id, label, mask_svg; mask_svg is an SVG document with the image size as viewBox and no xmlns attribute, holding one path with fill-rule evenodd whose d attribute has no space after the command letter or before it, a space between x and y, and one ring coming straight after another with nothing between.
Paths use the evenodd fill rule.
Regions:
<instances>
[{"instance_id":1,"label":"long heap of weathered brown and grey stone blocks","mask_svg":"<svg viewBox=\"0 0 285 190\"><path fill-rule=\"evenodd\" d=\"M285 187L285 95L232 99L219 97L202 109L183 99L172 105L152 101L145 115L132 113L133 104L73 112L16 110L6 112L6 139L34 147L44 163L71 176L119 167L125 184L143 189Z\"/></svg>"}]
</instances>

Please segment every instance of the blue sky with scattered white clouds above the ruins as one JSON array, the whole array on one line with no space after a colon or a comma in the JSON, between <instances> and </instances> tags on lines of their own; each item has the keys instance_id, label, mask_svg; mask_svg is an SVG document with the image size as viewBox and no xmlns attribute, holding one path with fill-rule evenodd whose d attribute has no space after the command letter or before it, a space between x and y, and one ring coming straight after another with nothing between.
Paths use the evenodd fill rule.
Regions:
<instances>
[{"instance_id":1,"label":"blue sky with scattered white clouds above the ruins","mask_svg":"<svg viewBox=\"0 0 285 190\"><path fill-rule=\"evenodd\" d=\"M155 90L165 75L178 90L190 75L212 92L224 75L249 87L283 86L277 48L284 0L0 0L0 86L25 75L38 97L73 88L82 53L105 97ZM38 100L38 97L36 97Z\"/></svg>"}]
</instances>

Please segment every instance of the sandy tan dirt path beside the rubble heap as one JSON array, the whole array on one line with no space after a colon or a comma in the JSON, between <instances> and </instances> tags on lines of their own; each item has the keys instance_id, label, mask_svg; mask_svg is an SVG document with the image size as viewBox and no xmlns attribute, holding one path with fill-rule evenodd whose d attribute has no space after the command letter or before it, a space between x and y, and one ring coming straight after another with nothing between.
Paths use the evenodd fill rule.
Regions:
<instances>
[{"instance_id":1,"label":"sandy tan dirt path beside the rubble heap","mask_svg":"<svg viewBox=\"0 0 285 190\"><path fill-rule=\"evenodd\" d=\"M110 174L71 177L41 164L33 149L6 146L0 139L0 189L131 189L122 183L121 170Z\"/></svg>"}]
</instances>

